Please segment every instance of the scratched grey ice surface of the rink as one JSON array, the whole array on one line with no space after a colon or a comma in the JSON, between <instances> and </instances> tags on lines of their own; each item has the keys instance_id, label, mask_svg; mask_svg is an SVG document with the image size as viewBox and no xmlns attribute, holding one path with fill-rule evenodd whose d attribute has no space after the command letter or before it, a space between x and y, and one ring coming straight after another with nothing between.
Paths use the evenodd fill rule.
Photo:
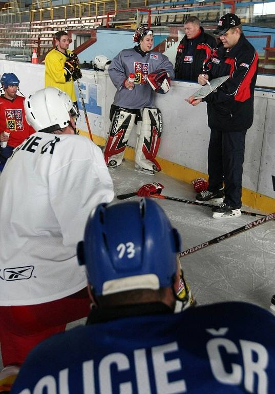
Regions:
<instances>
[{"instance_id":1,"label":"scratched grey ice surface of the rink","mask_svg":"<svg viewBox=\"0 0 275 394\"><path fill-rule=\"evenodd\" d=\"M152 182L163 184L163 195L194 200L191 184L177 181L162 172L155 176L134 170L125 161L110 169L115 195L137 191ZM124 201L138 200L137 196ZM253 222L260 216L242 215L236 219L213 219L211 208L170 200L154 199L164 209L182 238L182 250L200 245L229 231ZM114 203L119 202L117 198ZM259 212L249 207L243 210ZM261 212L272 213L272 212ZM181 258L185 277L199 305L222 301L247 301L268 309L275 294L275 221L242 232L218 244ZM230 316L228 316L230 319ZM68 324L72 328L85 319ZM0 360L0 369L2 368Z\"/></svg>"}]
</instances>

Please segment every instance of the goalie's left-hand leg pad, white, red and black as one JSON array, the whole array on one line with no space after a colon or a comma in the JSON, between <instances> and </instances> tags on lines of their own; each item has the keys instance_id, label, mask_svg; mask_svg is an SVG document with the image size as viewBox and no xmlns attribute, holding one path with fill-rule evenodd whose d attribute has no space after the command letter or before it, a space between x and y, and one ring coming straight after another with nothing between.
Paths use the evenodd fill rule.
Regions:
<instances>
[{"instance_id":1,"label":"goalie's left-hand leg pad, white, red and black","mask_svg":"<svg viewBox=\"0 0 275 394\"><path fill-rule=\"evenodd\" d=\"M119 108L115 111L109 130L108 140L103 153L108 167L117 167L122 163L136 114Z\"/></svg>"}]
</instances>

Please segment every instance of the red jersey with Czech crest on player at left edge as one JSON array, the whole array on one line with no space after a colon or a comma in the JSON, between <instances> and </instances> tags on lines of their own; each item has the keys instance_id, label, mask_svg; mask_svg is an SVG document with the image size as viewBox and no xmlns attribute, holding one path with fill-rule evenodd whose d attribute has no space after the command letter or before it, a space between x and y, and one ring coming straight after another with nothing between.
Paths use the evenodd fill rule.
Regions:
<instances>
[{"instance_id":1,"label":"red jersey with Czech crest on player at left edge","mask_svg":"<svg viewBox=\"0 0 275 394\"><path fill-rule=\"evenodd\" d=\"M24 100L22 96L16 96L14 100L0 97L0 132L10 129L8 145L13 148L35 132L26 121Z\"/></svg>"}]
</instances>

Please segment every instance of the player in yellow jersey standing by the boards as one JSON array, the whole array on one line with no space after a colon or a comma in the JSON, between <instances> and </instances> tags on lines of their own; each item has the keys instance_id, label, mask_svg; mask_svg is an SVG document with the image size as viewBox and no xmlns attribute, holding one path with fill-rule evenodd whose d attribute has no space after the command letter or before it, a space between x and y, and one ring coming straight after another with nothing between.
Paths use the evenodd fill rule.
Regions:
<instances>
[{"instance_id":1,"label":"player in yellow jersey standing by the boards","mask_svg":"<svg viewBox=\"0 0 275 394\"><path fill-rule=\"evenodd\" d=\"M63 90L77 105L74 81L82 77L78 57L68 49L70 40L66 31L55 33L55 41L56 48L45 57L45 87L53 86Z\"/></svg>"}]
</instances>

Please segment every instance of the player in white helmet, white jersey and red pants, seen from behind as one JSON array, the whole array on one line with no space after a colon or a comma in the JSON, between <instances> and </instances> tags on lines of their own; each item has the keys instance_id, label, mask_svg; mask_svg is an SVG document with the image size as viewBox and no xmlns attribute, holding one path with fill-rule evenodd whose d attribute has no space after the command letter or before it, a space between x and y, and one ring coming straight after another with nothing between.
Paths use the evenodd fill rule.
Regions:
<instances>
[{"instance_id":1,"label":"player in white helmet, white jersey and red pants, seen from behind","mask_svg":"<svg viewBox=\"0 0 275 394\"><path fill-rule=\"evenodd\" d=\"M88 316L76 245L90 211L114 198L101 150L74 135L67 93L39 90L25 111L36 133L0 176L0 392L38 342Z\"/></svg>"}]
</instances>

